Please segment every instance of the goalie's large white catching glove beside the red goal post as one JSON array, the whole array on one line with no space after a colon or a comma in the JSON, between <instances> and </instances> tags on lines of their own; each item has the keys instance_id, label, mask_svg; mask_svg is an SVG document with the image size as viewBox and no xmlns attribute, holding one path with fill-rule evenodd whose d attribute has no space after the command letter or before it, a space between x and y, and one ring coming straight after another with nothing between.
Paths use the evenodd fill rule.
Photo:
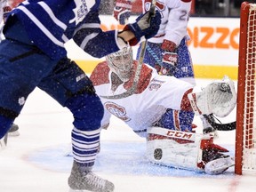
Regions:
<instances>
[{"instance_id":1,"label":"goalie's large white catching glove beside the red goal post","mask_svg":"<svg viewBox=\"0 0 256 192\"><path fill-rule=\"evenodd\" d=\"M222 80L208 84L202 92L189 93L188 100L196 115L228 116L236 107L234 82L225 76Z\"/></svg>"}]
</instances>

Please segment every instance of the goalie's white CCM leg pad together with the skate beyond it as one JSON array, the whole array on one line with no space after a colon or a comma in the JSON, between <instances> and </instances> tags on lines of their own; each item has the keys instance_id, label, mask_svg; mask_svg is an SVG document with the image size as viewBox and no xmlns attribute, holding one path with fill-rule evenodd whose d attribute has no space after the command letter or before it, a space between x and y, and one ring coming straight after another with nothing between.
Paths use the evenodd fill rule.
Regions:
<instances>
[{"instance_id":1,"label":"goalie's white CCM leg pad together with the skate beyond it","mask_svg":"<svg viewBox=\"0 0 256 192\"><path fill-rule=\"evenodd\" d=\"M148 129L147 157L162 164L207 174L220 174L235 164L223 153L228 149L213 143L213 138L193 132L178 132L161 127Z\"/></svg>"}]
</instances>

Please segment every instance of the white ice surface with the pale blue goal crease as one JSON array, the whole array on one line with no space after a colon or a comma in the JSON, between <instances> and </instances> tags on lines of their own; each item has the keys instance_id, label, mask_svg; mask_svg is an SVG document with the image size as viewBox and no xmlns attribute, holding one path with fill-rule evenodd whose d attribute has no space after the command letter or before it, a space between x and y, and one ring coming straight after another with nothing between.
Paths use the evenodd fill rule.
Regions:
<instances>
[{"instance_id":1,"label":"white ice surface with the pale blue goal crease","mask_svg":"<svg viewBox=\"0 0 256 192\"><path fill-rule=\"evenodd\" d=\"M203 86L208 83L209 80L197 80ZM223 122L235 120L235 110L222 119ZM0 191L68 192L72 157L65 155L73 128L68 109L36 89L15 123L20 126L20 136L9 137L8 147L0 151ZM198 117L195 123L197 131L202 132ZM219 132L215 142L228 146L234 153L235 135L235 131ZM113 117L108 130L101 133L102 154L94 171L114 182L116 192L256 191L256 176L235 175L234 168L216 177L147 165L143 159L144 144L143 139Z\"/></svg>"}]
</instances>

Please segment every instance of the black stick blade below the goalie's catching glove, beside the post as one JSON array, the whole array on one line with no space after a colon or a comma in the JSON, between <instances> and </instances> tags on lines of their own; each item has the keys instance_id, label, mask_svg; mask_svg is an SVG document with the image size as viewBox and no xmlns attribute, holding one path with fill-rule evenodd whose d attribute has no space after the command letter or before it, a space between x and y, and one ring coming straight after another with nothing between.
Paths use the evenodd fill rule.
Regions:
<instances>
[{"instance_id":1,"label":"black stick blade below the goalie's catching glove, beside the post","mask_svg":"<svg viewBox=\"0 0 256 192\"><path fill-rule=\"evenodd\" d=\"M209 115L209 116L205 116L204 117L207 119L207 121L209 122L209 124L212 125L212 128L214 128L215 130L218 131L232 131L232 130L236 130L236 121L235 122L231 122L228 124L222 124L220 122L219 119L217 119L215 116ZM220 123L216 123L214 121L214 118Z\"/></svg>"}]
</instances>

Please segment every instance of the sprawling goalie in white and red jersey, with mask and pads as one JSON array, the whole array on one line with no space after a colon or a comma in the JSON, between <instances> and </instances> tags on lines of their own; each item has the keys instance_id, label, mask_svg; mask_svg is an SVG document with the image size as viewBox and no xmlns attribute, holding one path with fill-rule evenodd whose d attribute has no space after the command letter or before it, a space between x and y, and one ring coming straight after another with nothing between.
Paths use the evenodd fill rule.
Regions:
<instances>
[{"instance_id":1,"label":"sprawling goalie in white and red jersey, with mask and pads","mask_svg":"<svg viewBox=\"0 0 256 192\"><path fill-rule=\"evenodd\" d=\"M210 174L234 165L233 157L222 153L228 150L213 144L212 136L192 132L192 122L180 124L180 129L173 122L173 129L156 126L167 108L195 111L196 115L228 116L236 106L233 82L225 78L212 82L202 92L193 92L193 85L173 76L160 76L155 68L143 64L134 94L122 99L104 97L129 90L136 66L132 48L126 47L109 54L93 70L90 78L105 108L102 128L108 127L111 115L123 120L133 132L147 138L148 160L155 164Z\"/></svg>"}]
</instances>

